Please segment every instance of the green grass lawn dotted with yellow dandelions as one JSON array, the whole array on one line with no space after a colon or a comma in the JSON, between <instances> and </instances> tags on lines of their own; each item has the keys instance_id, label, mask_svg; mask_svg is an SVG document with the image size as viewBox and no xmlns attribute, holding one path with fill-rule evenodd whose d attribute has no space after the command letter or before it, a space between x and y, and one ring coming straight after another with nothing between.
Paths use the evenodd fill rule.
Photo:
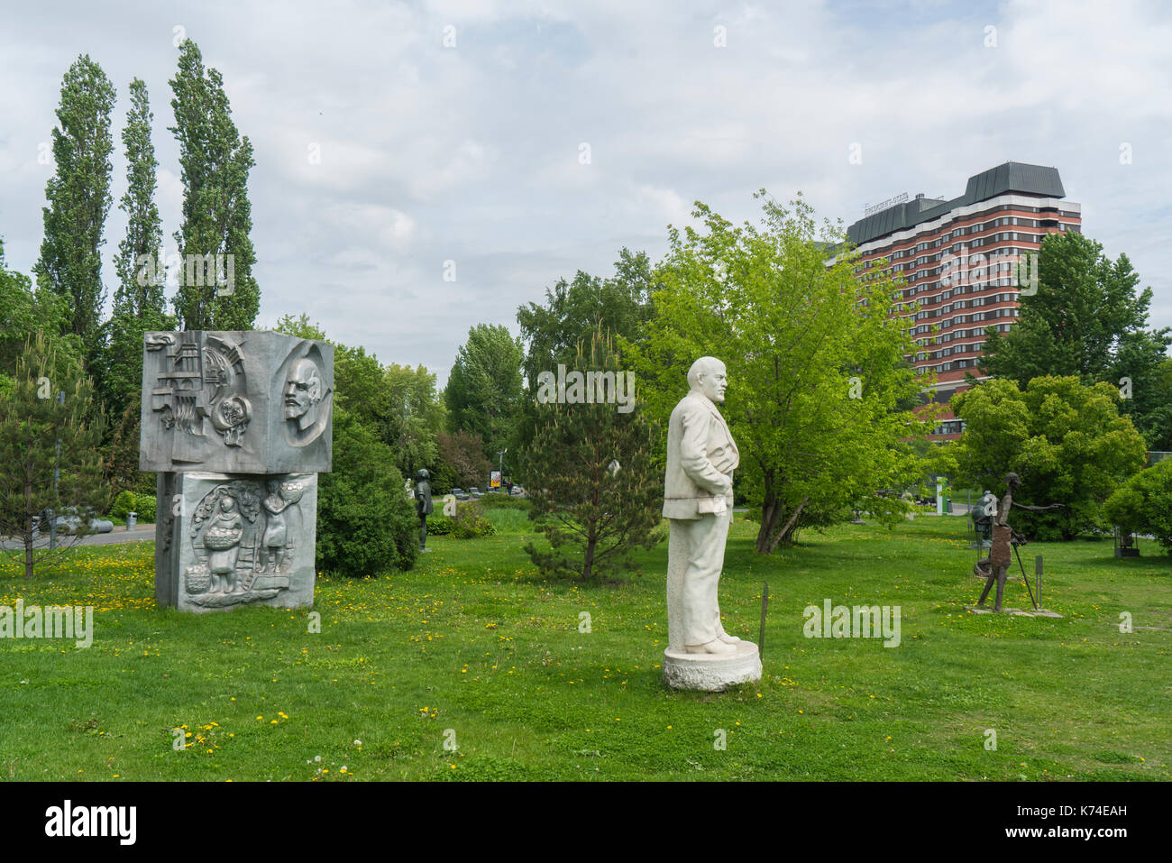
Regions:
<instances>
[{"instance_id":1,"label":"green grass lawn dotted with yellow dandelions","mask_svg":"<svg viewBox=\"0 0 1172 863\"><path fill-rule=\"evenodd\" d=\"M1152 545L1030 545L1064 618L977 616L963 518L806 532L772 557L738 519L721 607L756 640L769 582L765 673L701 694L660 680L666 544L624 584L545 580L517 515L432 538L413 572L319 578L320 633L305 610L155 607L152 543L75 550L32 584L5 563L0 604L93 605L96 632L88 650L0 640L0 776L1172 779L1172 563ZM899 605L901 644L805 638L803 609L826 598ZM1007 605L1029 606L1020 580Z\"/></svg>"}]
</instances>

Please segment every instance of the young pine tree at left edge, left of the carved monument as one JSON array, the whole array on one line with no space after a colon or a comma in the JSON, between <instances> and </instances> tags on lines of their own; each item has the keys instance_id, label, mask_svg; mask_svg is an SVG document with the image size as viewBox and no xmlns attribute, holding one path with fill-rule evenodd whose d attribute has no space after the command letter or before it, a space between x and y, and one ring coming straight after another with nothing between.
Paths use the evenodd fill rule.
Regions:
<instances>
[{"instance_id":1,"label":"young pine tree at left edge, left of the carved monument","mask_svg":"<svg viewBox=\"0 0 1172 863\"><path fill-rule=\"evenodd\" d=\"M9 553L22 559L26 578L61 562L61 546L47 548L49 511L74 508L84 534L109 502L98 456L103 414L91 402L81 363L57 354L40 332L12 378L0 380L0 537L16 541ZM60 539L70 544L68 535Z\"/></svg>"}]
</instances>

